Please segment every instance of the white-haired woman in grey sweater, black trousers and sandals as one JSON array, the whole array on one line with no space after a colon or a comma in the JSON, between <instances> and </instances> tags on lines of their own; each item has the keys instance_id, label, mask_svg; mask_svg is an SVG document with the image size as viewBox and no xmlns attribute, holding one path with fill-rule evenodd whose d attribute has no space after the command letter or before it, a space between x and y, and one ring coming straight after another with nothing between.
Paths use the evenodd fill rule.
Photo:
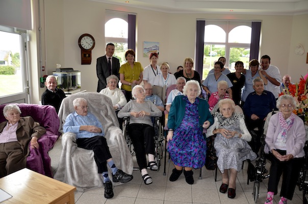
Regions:
<instances>
[{"instance_id":1,"label":"white-haired woman in grey sweater, black trousers and sandals","mask_svg":"<svg viewBox=\"0 0 308 204\"><path fill-rule=\"evenodd\" d=\"M137 163L139 165L144 184L151 184L152 178L147 173L146 168L158 170L155 162L155 141L154 128L151 121L152 116L162 116L160 111L152 101L145 101L145 90L142 86L136 85L132 90L136 100L130 100L118 113L118 117L130 116L130 125L127 127L130 138L135 148ZM148 156L148 164L146 157Z\"/></svg>"}]
</instances>

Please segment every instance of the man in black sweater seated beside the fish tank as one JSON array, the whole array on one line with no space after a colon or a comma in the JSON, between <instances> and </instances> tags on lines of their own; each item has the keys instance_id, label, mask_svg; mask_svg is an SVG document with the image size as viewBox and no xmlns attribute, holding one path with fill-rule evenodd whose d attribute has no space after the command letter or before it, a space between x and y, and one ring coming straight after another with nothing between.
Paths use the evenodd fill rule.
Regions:
<instances>
[{"instance_id":1,"label":"man in black sweater seated beside the fish tank","mask_svg":"<svg viewBox=\"0 0 308 204\"><path fill-rule=\"evenodd\" d=\"M57 88L57 80L54 75L49 75L46 78L45 86L46 91L42 94L41 103L42 105L52 105L56 108L57 113L63 98L65 98L65 93L62 89Z\"/></svg>"}]
</instances>

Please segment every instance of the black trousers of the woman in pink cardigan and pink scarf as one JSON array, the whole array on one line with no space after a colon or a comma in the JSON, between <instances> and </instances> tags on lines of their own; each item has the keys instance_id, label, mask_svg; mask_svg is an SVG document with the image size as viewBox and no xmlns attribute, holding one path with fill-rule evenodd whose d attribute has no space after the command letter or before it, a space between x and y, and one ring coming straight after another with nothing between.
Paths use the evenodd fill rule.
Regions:
<instances>
[{"instance_id":1,"label":"black trousers of the woman in pink cardigan and pink scarf","mask_svg":"<svg viewBox=\"0 0 308 204\"><path fill-rule=\"evenodd\" d=\"M280 155L286 155L286 151L277 149ZM283 175L283 184L281 185L280 196L292 200L300 168L304 164L304 158L294 158L287 162L280 162L273 154L269 154L271 161L270 177L268 181L268 191L278 192L278 182L281 174Z\"/></svg>"}]
</instances>

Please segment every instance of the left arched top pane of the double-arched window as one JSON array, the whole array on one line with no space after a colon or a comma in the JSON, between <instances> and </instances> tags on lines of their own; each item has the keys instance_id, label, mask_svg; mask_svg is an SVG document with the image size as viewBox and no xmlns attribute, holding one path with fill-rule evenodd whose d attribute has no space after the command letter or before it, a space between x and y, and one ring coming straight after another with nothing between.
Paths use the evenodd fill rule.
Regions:
<instances>
[{"instance_id":1,"label":"left arched top pane of the double-arched window","mask_svg":"<svg viewBox=\"0 0 308 204\"><path fill-rule=\"evenodd\" d=\"M204 42L225 42L226 33L218 25L206 25L204 33Z\"/></svg>"}]
</instances>

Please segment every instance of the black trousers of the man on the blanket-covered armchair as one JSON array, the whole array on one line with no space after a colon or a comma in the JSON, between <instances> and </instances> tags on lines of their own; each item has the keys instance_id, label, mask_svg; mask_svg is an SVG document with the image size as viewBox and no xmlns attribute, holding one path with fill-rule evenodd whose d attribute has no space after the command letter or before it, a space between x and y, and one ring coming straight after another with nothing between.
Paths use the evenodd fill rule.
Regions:
<instances>
[{"instance_id":1,"label":"black trousers of the man on the blanket-covered armchair","mask_svg":"<svg viewBox=\"0 0 308 204\"><path fill-rule=\"evenodd\" d=\"M112 157L105 137L95 136L90 138L79 138L76 143L78 147L92 149L94 151L94 160L98 167L98 173L108 171L107 160Z\"/></svg>"}]
</instances>

